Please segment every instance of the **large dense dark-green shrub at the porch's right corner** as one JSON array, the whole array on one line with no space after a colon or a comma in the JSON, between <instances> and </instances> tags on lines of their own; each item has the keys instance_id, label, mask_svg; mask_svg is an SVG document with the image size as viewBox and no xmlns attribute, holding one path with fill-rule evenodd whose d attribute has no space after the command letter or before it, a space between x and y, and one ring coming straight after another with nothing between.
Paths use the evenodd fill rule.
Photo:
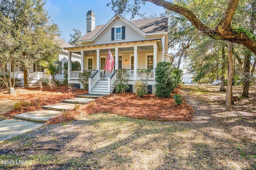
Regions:
<instances>
[{"instance_id":1,"label":"large dense dark-green shrub at the porch's right corner","mask_svg":"<svg viewBox=\"0 0 256 170\"><path fill-rule=\"evenodd\" d=\"M172 67L170 62L159 62L156 66L156 96L170 98L170 94L181 83L182 70Z\"/></svg>"}]
</instances>

